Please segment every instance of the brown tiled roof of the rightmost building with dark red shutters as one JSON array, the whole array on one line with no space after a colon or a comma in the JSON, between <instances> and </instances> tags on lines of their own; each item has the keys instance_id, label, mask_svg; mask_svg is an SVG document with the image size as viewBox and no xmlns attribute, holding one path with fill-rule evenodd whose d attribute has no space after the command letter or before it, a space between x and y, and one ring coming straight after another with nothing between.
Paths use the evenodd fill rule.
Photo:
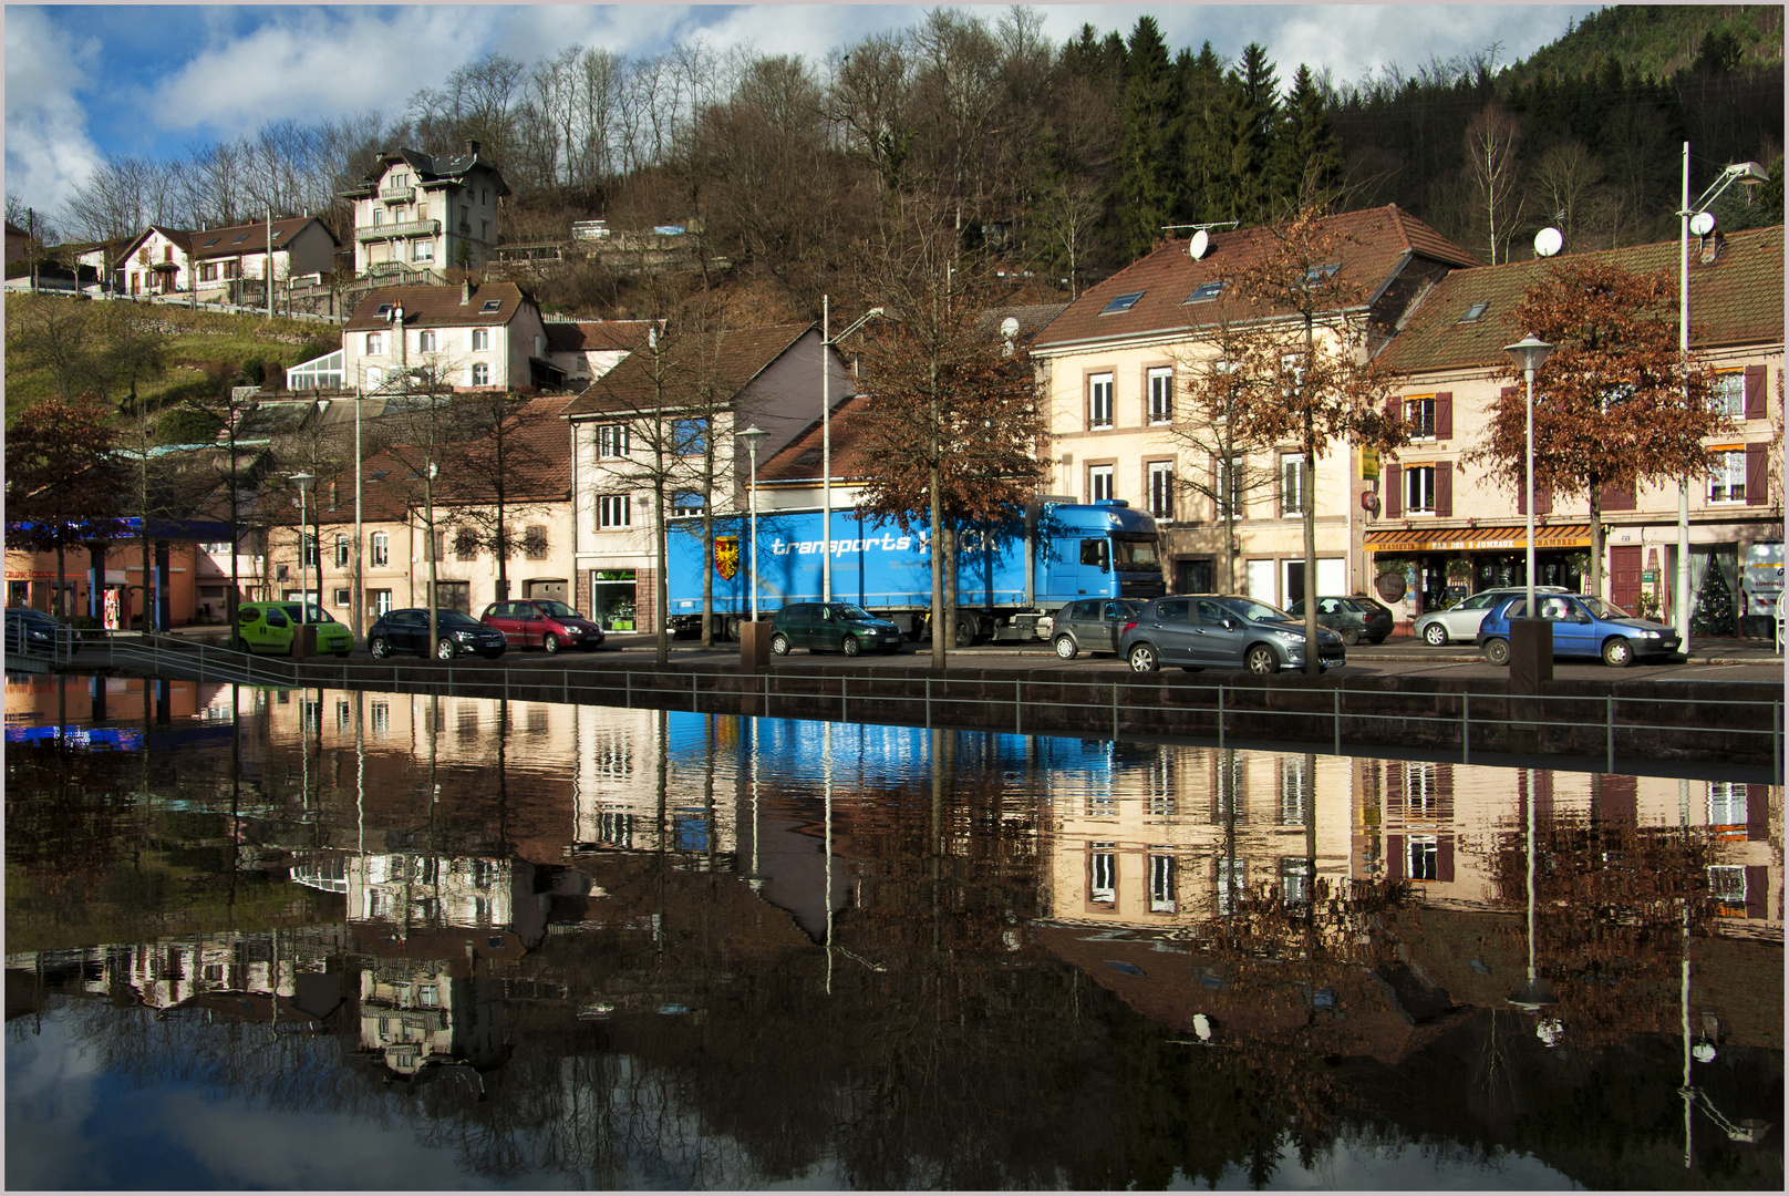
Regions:
<instances>
[{"instance_id":1,"label":"brown tiled roof of the rightmost building with dark red shutters","mask_svg":"<svg viewBox=\"0 0 1789 1196\"><path fill-rule=\"evenodd\" d=\"M1454 270L1442 279L1385 351L1385 362L1406 372L1503 365L1503 346L1524 329L1510 322L1522 292L1546 278L1556 261L1612 261L1626 270L1678 278L1678 242L1605 249L1594 254L1537 258L1510 265ZM1689 260L1691 344L1728 346L1784 338L1784 229L1732 233L1719 258L1701 265L1696 245ZM1471 324L1460 320L1474 304L1487 308Z\"/></svg>"}]
</instances>

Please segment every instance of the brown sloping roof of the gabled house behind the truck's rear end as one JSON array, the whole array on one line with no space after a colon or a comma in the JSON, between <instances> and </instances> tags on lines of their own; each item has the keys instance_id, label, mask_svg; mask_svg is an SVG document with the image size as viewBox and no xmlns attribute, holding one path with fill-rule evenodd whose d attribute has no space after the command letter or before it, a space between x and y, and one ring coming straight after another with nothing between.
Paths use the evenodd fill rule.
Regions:
<instances>
[{"instance_id":1,"label":"brown sloping roof of the gabled house behind the truck's rear end","mask_svg":"<svg viewBox=\"0 0 1789 1196\"><path fill-rule=\"evenodd\" d=\"M812 324L733 328L719 333L685 333L660 338L660 353L630 353L590 389L578 396L567 415L651 410L664 403L664 389L685 394L714 383L732 397L803 337Z\"/></svg>"}]
</instances>

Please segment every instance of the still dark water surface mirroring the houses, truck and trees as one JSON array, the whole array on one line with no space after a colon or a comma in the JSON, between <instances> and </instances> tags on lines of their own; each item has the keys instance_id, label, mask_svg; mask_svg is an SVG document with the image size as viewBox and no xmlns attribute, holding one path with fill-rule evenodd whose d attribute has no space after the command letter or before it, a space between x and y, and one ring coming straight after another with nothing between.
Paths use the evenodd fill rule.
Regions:
<instances>
[{"instance_id":1,"label":"still dark water surface mirroring the houses, truck and trees","mask_svg":"<svg viewBox=\"0 0 1789 1196\"><path fill-rule=\"evenodd\" d=\"M168 1187L1782 1183L1776 788L132 684L9 680L13 1185L145 1185L73 1051L383 1135Z\"/></svg>"}]
</instances>

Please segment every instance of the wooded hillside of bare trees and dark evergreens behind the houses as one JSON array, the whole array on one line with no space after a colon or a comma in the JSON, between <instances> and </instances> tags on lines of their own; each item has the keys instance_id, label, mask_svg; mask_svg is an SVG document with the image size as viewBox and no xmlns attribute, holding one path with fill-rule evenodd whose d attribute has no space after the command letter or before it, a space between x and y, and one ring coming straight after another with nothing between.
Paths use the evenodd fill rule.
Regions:
<instances>
[{"instance_id":1,"label":"wooded hillside of bare trees and dark evergreens behind the houses","mask_svg":"<svg viewBox=\"0 0 1789 1196\"><path fill-rule=\"evenodd\" d=\"M1723 227L1778 222L1782 118L1782 9L1768 5L1605 9L1522 63L1490 47L1351 82L1258 45L1236 61L1170 47L1147 16L1056 45L1030 9L934 9L825 61L701 41L492 54L403 113L109 161L59 224L100 240L274 206L322 213L347 243L335 193L376 150L478 140L513 188L506 240L564 240L594 217L683 224L717 263L710 281L782 319L818 313L823 292L866 299L866 247L916 206L1000 256L1023 279L1014 297L1073 294L1166 226L1252 224L1311 186L1338 206L1403 204L1487 261L1528 256L1547 224L1585 249L1673 236L1685 138L1696 190L1728 161L1773 170L1751 202L1734 188ZM601 269L537 286L585 313L639 304L637 281Z\"/></svg>"}]
</instances>

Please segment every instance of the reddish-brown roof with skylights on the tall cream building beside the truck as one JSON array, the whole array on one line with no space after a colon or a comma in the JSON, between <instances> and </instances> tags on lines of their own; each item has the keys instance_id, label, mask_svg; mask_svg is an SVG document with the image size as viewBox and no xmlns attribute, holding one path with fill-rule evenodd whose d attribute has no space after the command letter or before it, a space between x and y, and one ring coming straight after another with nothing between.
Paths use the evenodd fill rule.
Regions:
<instances>
[{"instance_id":1,"label":"reddish-brown roof with skylights on the tall cream building beside the truck","mask_svg":"<svg viewBox=\"0 0 1789 1196\"><path fill-rule=\"evenodd\" d=\"M1345 211L1326 220L1347 243L1340 254L1340 278L1369 290L1383 286L1408 256L1424 256L1453 267L1478 265L1465 249L1417 220L1397 204ZM1202 283L1236 274L1272 245L1265 227L1211 233L1211 247L1197 261L1186 240L1172 240L1147 258L1090 286L1056 317L1036 340L1036 349L1125 340L1150 333L1183 331L1211 320L1208 304L1188 304ZM1102 315L1118 295L1141 297L1125 312Z\"/></svg>"}]
</instances>

